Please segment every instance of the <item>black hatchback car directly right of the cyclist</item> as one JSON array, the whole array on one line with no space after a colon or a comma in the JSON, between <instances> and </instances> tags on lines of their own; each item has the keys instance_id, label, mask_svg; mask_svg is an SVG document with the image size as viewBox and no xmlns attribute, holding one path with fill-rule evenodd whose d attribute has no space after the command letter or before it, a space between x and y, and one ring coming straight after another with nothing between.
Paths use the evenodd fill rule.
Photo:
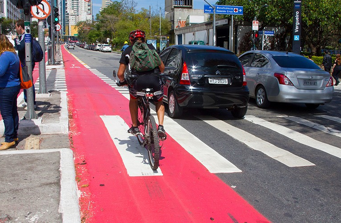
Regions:
<instances>
[{"instance_id":1,"label":"black hatchback car directly right of the cyclist","mask_svg":"<svg viewBox=\"0 0 341 223\"><path fill-rule=\"evenodd\" d=\"M238 57L220 47L173 45L161 53L165 64L164 101L168 114L179 118L183 108L227 108L233 117L247 111L249 90Z\"/></svg>"}]
</instances>

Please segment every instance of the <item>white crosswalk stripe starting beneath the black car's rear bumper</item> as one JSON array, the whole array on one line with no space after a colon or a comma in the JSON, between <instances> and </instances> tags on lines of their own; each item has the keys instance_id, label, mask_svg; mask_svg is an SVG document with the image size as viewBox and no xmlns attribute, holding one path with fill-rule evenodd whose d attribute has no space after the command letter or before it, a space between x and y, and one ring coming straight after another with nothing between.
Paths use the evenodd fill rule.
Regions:
<instances>
[{"instance_id":1,"label":"white crosswalk stripe starting beneath the black car's rear bumper","mask_svg":"<svg viewBox=\"0 0 341 223\"><path fill-rule=\"evenodd\" d=\"M205 121L214 128L219 129L227 135L235 138L236 140L243 142L251 149L260 151L288 167L315 166L315 164L309 162L308 160L305 160L300 156L292 154L269 142L266 142L261 138L255 137L242 129L236 128L226 123L225 121L216 119L214 117L209 117L208 119L207 116L196 117Z\"/></svg>"}]
</instances>

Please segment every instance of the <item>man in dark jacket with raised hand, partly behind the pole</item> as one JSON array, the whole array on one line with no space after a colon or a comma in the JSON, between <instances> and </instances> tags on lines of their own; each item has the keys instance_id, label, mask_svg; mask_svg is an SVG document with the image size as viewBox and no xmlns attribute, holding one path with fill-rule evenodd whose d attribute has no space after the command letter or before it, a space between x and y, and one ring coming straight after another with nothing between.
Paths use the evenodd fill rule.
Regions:
<instances>
[{"instance_id":1,"label":"man in dark jacket with raised hand, partly behind the pole","mask_svg":"<svg viewBox=\"0 0 341 223\"><path fill-rule=\"evenodd\" d=\"M18 55L19 55L19 59L20 59L20 62L22 64L22 66L25 66L26 65L26 52L25 52L25 22L24 20L22 19L19 19L17 22L16 22L16 31L17 31L17 34L20 34L21 36L18 37L16 35L12 35L12 39L14 40L14 43L15 43L15 49L18 51ZM32 54L32 52L31 52ZM31 59L32 59L32 55L31 55ZM32 59L32 71L35 67L35 62L33 62L33 59ZM32 80L33 82L33 80ZM20 104L20 107L27 107L27 90L24 89L24 100L25 102ZM36 105L36 90L35 90L35 87L34 87L34 84L33 84L33 100L34 100L34 108L36 109L37 108L37 105Z\"/></svg>"}]
</instances>

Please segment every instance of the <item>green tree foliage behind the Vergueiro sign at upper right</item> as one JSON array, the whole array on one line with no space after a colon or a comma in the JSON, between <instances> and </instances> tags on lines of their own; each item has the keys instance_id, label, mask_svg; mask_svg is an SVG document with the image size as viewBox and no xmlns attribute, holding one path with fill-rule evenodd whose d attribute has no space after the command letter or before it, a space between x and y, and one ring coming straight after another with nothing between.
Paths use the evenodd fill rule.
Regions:
<instances>
[{"instance_id":1,"label":"green tree foliage behind the Vergueiro sign at upper right","mask_svg":"<svg viewBox=\"0 0 341 223\"><path fill-rule=\"evenodd\" d=\"M261 9L265 3L268 7ZM272 50L292 49L292 0L272 0L270 2L265 0L218 0L217 4L244 7L244 15L235 17L236 25L238 22L251 22L256 16L261 21L260 29L265 26L279 27L280 31L275 36ZM261 12L260 15L258 15L259 12ZM321 0L302 1L302 48L307 46L320 55L321 49L326 46L336 46L337 36L341 36L340 3Z\"/></svg>"}]
</instances>

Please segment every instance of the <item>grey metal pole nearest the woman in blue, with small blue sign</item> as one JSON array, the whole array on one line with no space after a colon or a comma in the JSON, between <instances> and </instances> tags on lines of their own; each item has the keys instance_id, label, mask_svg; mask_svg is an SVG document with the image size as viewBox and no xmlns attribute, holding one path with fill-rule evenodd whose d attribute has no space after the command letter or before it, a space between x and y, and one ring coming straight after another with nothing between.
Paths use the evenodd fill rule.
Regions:
<instances>
[{"instance_id":1,"label":"grey metal pole nearest the woman in blue, with small blue sign","mask_svg":"<svg viewBox=\"0 0 341 223\"><path fill-rule=\"evenodd\" d=\"M33 80L32 77L32 35L31 35L31 15L28 13L25 14L25 62L27 67L27 73L31 80ZM26 97L27 97L27 112L24 116L25 119L37 119L38 116L34 110L34 94L33 86L26 89Z\"/></svg>"}]
</instances>

